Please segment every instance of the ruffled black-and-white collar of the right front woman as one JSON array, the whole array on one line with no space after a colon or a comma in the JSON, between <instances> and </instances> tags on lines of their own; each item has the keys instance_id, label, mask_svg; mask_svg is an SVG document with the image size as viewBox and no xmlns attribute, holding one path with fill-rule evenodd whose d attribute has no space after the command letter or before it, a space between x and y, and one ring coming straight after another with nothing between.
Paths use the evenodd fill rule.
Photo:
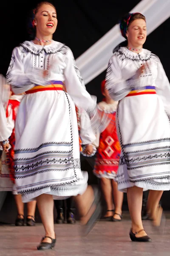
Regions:
<instances>
[{"instance_id":1,"label":"ruffled black-and-white collar of the right front woman","mask_svg":"<svg viewBox=\"0 0 170 256\"><path fill-rule=\"evenodd\" d=\"M120 59L148 61L153 54L147 49L142 49L141 52L136 53L130 51L126 47L120 47L118 51L114 52L114 55L116 55Z\"/></svg>"}]
</instances>

